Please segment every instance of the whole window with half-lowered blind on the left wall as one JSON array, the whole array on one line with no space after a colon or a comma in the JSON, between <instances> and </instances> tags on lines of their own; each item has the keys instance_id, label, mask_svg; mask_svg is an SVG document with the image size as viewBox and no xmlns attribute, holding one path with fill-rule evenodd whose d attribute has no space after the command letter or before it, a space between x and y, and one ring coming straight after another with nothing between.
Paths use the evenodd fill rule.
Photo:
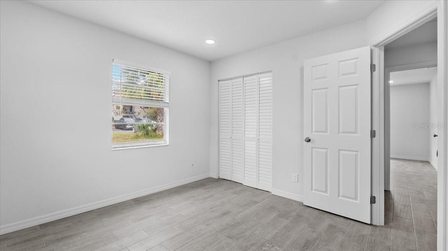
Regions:
<instances>
[{"instance_id":1,"label":"whole window with half-lowered blind on the left wall","mask_svg":"<svg viewBox=\"0 0 448 251\"><path fill-rule=\"evenodd\" d=\"M169 74L112 64L112 148L168 143Z\"/></svg>"}]
</instances>

